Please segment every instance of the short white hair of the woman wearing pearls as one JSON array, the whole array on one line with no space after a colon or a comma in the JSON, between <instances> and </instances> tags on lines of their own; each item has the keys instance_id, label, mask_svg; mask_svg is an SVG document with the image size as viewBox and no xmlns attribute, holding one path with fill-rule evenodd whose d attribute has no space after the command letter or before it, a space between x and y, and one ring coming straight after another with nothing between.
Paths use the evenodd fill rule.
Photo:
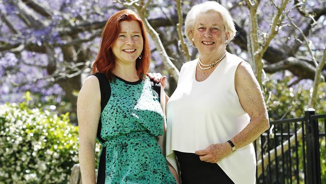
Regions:
<instances>
[{"instance_id":1,"label":"short white hair of the woman wearing pearls","mask_svg":"<svg viewBox=\"0 0 326 184\"><path fill-rule=\"evenodd\" d=\"M233 40L236 34L234 22L232 20L232 17L226 8L224 8L222 5L220 5L217 2L205 2L198 5L193 6L193 8L188 12L186 21L185 21L185 33L187 36L187 39L190 42L192 41L192 31L195 27L196 18L199 14L207 13L207 12L216 12L219 13L223 19L223 23L225 26L225 31L229 32L229 40Z\"/></svg>"}]
</instances>

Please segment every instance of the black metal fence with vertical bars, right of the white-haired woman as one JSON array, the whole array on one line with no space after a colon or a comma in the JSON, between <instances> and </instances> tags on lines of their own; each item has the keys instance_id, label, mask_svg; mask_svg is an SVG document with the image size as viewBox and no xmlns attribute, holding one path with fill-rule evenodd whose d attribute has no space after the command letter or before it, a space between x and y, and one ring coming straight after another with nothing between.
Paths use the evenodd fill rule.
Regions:
<instances>
[{"instance_id":1,"label":"black metal fence with vertical bars, right of the white-haired woman","mask_svg":"<svg viewBox=\"0 0 326 184\"><path fill-rule=\"evenodd\" d=\"M257 183L326 183L326 114L270 122L254 141Z\"/></svg>"}]
</instances>

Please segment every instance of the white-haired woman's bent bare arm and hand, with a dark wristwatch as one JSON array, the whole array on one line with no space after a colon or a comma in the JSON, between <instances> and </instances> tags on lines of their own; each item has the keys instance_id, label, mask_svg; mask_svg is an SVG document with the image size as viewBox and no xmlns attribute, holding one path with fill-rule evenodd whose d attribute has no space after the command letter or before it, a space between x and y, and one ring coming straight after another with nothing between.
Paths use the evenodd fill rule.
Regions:
<instances>
[{"instance_id":1,"label":"white-haired woman's bent bare arm and hand, with a dark wristwatch","mask_svg":"<svg viewBox=\"0 0 326 184\"><path fill-rule=\"evenodd\" d=\"M236 70L235 89L242 108L251 119L250 123L231 139L236 149L239 149L253 142L267 130L269 120L260 86L251 66L246 62L240 63ZM200 155L202 161L211 163L216 163L231 153L232 148L228 142L212 144L195 152Z\"/></svg>"}]
</instances>

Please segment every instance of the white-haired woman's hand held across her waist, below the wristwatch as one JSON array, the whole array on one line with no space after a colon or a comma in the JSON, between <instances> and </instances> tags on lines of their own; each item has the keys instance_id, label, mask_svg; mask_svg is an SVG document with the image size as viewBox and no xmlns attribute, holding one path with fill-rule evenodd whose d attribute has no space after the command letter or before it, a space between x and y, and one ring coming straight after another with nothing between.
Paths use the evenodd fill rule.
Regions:
<instances>
[{"instance_id":1,"label":"white-haired woman's hand held across her waist, below the wristwatch","mask_svg":"<svg viewBox=\"0 0 326 184\"><path fill-rule=\"evenodd\" d=\"M199 155L200 160L210 163L217 163L231 153L232 148L227 142L222 144L212 144L206 149L195 152L195 154Z\"/></svg>"}]
</instances>

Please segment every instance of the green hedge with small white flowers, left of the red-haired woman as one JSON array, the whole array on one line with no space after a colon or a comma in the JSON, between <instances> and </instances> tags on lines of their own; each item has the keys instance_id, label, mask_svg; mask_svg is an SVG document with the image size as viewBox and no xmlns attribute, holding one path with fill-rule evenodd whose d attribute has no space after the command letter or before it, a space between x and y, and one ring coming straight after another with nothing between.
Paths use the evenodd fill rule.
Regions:
<instances>
[{"instance_id":1,"label":"green hedge with small white flowers, left of the red-haired woman","mask_svg":"<svg viewBox=\"0 0 326 184\"><path fill-rule=\"evenodd\" d=\"M0 183L67 183L78 163L78 128L26 102L0 106Z\"/></svg>"}]
</instances>

